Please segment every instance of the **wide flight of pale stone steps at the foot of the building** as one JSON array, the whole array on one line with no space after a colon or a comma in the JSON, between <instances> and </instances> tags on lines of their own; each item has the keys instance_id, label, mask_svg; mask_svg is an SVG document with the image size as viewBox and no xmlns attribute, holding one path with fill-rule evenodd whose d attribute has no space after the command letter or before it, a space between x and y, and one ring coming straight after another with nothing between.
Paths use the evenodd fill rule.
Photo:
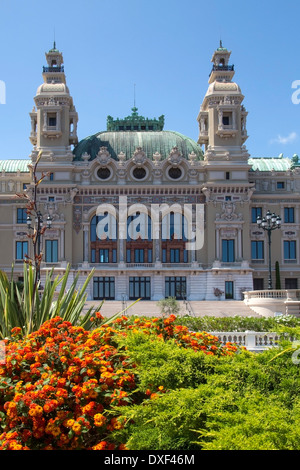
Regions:
<instances>
[{"instance_id":1,"label":"wide flight of pale stone steps at the foot of the building","mask_svg":"<svg viewBox=\"0 0 300 470\"><path fill-rule=\"evenodd\" d=\"M129 307L133 301L127 300L126 306ZM190 306L192 307L193 315L196 317L200 316L214 316L214 317L232 317L232 316L251 316L251 317L260 317L258 313L255 313L250 307L245 305L243 301L238 300L217 300L217 301L190 301ZM91 306L96 307L100 302L97 300L90 300L86 303L85 309L90 308ZM179 301L180 305L180 314L187 314L187 309L184 302ZM101 313L105 317L110 317L117 312L121 312L123 309L123 304L121 301L109 300L104 302ZM160 316L160 309L157 306L156 301L139 301L135 303L132 307L129 307L128 310L124 313L125 315L138 315L138 316Z\"/></svg>"}]
</instances>

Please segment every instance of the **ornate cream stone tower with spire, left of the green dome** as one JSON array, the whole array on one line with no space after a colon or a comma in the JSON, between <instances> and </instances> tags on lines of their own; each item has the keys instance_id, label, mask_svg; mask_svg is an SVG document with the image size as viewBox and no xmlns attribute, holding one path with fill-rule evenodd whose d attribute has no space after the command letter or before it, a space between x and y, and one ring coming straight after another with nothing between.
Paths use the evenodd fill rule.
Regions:
<instances>
[{"instance_id":1,"label":"ornate cream stone tower with spire, left of the green dome","mask_svg":"<svg viewBox=\"0 0 300 470\"><path fill-rule=\"evenodd\" d=\"M50 157L59 161L71 158L71 146L78 142L78 115L66 85L63 55L55 41L45 56L43 83L37 89L30 113L30 141L33 153L43 151L44 161Z\"/></svg>"}]
</instances>

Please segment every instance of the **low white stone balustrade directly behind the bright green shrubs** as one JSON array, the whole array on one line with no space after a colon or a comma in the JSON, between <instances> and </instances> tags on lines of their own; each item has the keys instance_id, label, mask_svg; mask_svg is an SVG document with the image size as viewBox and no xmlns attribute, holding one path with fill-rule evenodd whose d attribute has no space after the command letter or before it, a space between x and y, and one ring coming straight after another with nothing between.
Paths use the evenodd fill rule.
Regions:
<instances>
[{"instance_id":1,"label":"low white stone balustrade directly behind the bright green shrubs","mask_svg":"<svg viewBox=\"0 0 300 470\"><path fill-rule=\"evenodd\" d=\"M278 333L243 331L243 332L223 332L210 331L213 336L217 336L222 344L235 343L244 346L249 351L260 352L278 345L280 339Z\"/></svg>"}]
</instances>

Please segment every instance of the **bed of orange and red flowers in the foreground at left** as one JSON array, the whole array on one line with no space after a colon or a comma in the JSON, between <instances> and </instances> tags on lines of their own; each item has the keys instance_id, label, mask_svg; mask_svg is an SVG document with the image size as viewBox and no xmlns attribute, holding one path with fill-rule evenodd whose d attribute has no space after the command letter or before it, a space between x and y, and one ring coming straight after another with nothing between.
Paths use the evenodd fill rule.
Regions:
<instances>
[{"instance_id":1,"label":"bed of orange and red flowers in the foreground at left","mask_svg":"<svg viewBox=\"0 0 300 470\"><path fill-rule=\"evenodd\" d=\"M119 345L120 338L139 332L206 355L237 350L175 325L175 319L122 316L107 325L97 314L95 329L86 331L56 317L27 337L15 328L13 340L6 341L6 362L0 364L0 450L126 449L115 438L124 426L118 407L167 391L150 384L146 391L139 389L138 365Z\"/></svg>"}]
</instances>

